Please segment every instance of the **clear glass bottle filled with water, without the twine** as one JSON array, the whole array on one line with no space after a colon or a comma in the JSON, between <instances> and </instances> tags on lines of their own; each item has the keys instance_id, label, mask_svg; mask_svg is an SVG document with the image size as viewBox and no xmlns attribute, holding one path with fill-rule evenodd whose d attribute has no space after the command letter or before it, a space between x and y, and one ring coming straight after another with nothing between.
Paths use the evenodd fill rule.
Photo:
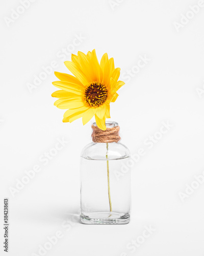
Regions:
<instances>
[{"instance_id":1,"label":"clear glass bottle filled with water, without the twine","mask_svg":"<svg viewBox=\"0 0 204 256\"><path fill-rule=\"evenodd\" d=\"M96 123L93 126L97 127ZM107 130L116 126L116 122L106 122ZM129 158L130 151L120 142L92 142L84 147L80 164L81 223L130 222L131 172L124 172Z\"/></svg>"}]
</instances>

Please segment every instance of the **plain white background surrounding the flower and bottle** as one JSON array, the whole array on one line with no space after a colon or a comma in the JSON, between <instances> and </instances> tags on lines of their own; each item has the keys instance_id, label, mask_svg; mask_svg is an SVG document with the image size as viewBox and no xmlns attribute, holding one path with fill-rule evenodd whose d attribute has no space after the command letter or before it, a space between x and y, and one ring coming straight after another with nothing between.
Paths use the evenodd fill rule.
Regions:
<instances>
[{"instance_id":1,"label":"plain white background surrounding the flower and bottle","mask_svg":"<svg viewBox=\"0 0 204 256\"><path fill-rule=\"evenodd\" d=\"M57 231L63 238L46 255L204 255L204 185L194 182L198 188L180 197L204 170L204 7L176 31L174 22L181 23L197 0L117 1L111 7L109 0L36 0L9 24L5 17L11 18L12 9L22 11L21 3L1 1L0 223L3 241L3 199L8 197L9 255L40 255L39 246ZM84 39L71 53L96 49L100 59L107 52L123 76L136 69L140 56L150 59L131 79L123 79L126 84L111 104L122 143L132 154L145 150L132 168L128 225L82 225L77 219L79 156L90 142L91 122L63 123L64 111L50 96L56 91L54 71L69 73L59 54L76 35ZM52 61L58 67L29 91L34 75ZM148 148L144 141L166 121L172 127ZM47 164L40 162L62 138L67 141L62 150ZM12 197L9 188L35 165L41 171ZM149 225L155 229L149 238L128 249ZM0 254L6 255L2 242Z\"/></svg>"}]
</instances>

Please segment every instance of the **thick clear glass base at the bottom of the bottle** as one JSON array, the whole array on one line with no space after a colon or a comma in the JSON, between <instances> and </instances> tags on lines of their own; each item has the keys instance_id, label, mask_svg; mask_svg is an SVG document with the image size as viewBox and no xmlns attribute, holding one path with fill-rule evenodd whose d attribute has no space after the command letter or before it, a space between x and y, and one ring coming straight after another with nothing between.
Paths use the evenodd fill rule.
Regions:
<instances>
[{"instance_id":1,"label":"thick clear glass base at the bottom of the bottle","mask_svg":"<svg viewBox=\"0 0 204 256\"><path fill-rule=\"evenodd\" d=\"M89 216L81 214L80 222L93 225L122 225L130 222L130 214L116 214L115 212L94 212Z\"/></svg>"}]
</instances>

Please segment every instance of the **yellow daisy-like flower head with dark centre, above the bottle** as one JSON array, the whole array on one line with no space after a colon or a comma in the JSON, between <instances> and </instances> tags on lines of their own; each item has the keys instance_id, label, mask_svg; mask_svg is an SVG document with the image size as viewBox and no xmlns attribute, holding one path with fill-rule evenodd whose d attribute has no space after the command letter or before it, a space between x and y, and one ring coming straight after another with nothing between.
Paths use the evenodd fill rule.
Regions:
<instances>
[{"instance_id":1,"label":"yellow daisy-like flower head with dark centre, above the bottle","mask_svg":"<svg viewBox=\"0 0 204 256\"><path fill-rule=\"evenodd\" d=\"M65 66L74 75L55 72L60 81L53 82L59 89L52 94L58 98L54 105L59 109L68 109L64 113L63 122L72 122L82 117L86 124L95 115L96 124L106 130L106 118L110 118L110 103L118 97L117 90L124 85L118 81L120 68L114 67L113 58L105 53L98 62L95 50L78 52L71 55L71 61Z\"/></svg>"}]
</instances>

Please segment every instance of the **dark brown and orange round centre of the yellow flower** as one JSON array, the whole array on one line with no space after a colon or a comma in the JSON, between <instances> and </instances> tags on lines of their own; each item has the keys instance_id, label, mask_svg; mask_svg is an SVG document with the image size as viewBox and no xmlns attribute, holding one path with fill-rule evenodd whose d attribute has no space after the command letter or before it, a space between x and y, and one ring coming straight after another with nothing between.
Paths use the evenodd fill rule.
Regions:
<instances>
[{"instance_id":1,"label":"dark brown and orange round centre of the yellow flower","mask_svg":"<svg viewBox=\"0 0 204 256\"><path fill-rule=\"evenodd\" d=\"M103 83L93 82L87 86L84 99L89 106L103 105L108 98L108 90Z\"/></svg>"}]
</instances>

